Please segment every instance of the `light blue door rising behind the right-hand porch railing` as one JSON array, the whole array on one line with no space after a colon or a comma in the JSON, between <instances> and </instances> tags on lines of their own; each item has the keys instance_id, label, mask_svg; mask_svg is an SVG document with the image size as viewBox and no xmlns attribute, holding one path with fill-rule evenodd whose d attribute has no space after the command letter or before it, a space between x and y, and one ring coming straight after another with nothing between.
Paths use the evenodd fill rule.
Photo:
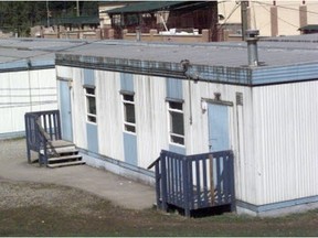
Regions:
<instances>
[{"instance_id":1,"label":"light blue door rising behind the right-hand porch railing","mask_svg":"<svg viewBox=\"0 0 318 238\"><path fill-rule=\"evenodd\" d=\"M229 106L209 104L210 152L230 150Z\"/></svg>"}]
</instances>

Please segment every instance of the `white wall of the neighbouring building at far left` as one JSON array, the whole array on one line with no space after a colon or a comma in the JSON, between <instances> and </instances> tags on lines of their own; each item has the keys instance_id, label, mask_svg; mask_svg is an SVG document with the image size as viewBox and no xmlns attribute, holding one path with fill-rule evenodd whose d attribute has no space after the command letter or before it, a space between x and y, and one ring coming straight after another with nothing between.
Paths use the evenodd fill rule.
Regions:
<instances>
[{"instance_id":1,"label":"white wall of the neighbouring building at far left","mask_svg":"<svg viewBox=\"0 0 318 238\"><path fill-rule=\"evenodd\" d=\"M55 69L0 75L0 133L24 131L24 113L57 108Z\"/></svg>"}]
</instances>

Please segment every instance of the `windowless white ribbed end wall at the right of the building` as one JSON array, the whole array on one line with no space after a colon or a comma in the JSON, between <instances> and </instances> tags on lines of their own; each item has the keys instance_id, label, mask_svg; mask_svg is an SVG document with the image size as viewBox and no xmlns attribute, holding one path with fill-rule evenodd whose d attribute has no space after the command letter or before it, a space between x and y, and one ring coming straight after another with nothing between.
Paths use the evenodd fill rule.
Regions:
<instances>
[{"instance_id":1,"label":"windowless white ribbed end wall at the right of the building","mask_svg":"<svg viewBox=\"0 0 318 238\"><path fill-rule=\"evenodd\" d=\"M318 193L318 83L254 88L258 205Z\"/></svg>"}]
</instances>

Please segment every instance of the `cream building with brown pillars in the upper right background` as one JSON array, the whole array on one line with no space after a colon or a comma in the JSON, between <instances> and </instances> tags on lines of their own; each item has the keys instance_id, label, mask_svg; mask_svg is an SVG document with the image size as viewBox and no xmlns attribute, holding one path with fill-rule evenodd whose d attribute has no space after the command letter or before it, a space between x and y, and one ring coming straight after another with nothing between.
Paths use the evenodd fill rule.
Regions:
<instances>
[{"instance_id":1,"label":"cream building with brown pillars in the upper right background","mask_svg":"<svg viewBox=\"0 0 318 238\"><path fill-rule=\"evenodd\" d=\"M232 34L242 33L241 2L248 4L247 29L258 29L261 36L299 35L300 28L318 21L318 3L312 0L219 1L219 14L224 17L220 24Z\"/></svg>"}]
</instances>

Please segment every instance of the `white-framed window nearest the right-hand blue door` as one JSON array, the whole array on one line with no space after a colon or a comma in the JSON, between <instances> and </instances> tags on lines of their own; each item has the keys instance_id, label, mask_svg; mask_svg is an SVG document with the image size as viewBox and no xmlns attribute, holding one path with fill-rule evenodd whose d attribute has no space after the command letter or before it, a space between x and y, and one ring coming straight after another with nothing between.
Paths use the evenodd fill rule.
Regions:
<instances>
[{"instance_id":1,"label":"white-framed window nearest the right-hand blue door","mask_svg":"<svg viewBox=\"0 0 318 238\"><path fill-rule=\"evenodd\" d=\"M179 106L181 106L181 109L171 107L171 104L180 104ZM167 109L168 109L169 143L178 145L178 147L186 147L183 100L167 100ZM183 125L182 132L183 132L183 134L173 132L174 130L173 130L172 116L176 115L176 113L179 113L179 115L182 116L182 125ZM179 139L179 140L181 139L182 142L176 141L176 138Z\"/></svg>"}]
</instances>

